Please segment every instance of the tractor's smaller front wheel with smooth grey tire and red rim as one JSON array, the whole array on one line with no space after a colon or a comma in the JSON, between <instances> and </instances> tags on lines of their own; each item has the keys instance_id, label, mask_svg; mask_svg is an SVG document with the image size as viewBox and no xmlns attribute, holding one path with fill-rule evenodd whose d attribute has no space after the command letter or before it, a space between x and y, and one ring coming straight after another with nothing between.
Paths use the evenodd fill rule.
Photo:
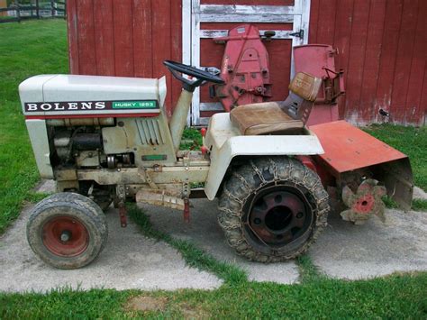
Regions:
<instances>
[{"instance_id":1,"label":"tractor's smaller front wheel with smooth grey tire and red rim","mask_svg":"<svg viewBox=\"0 0 427 320\"><path fill-rule=\"evenodd\" d=\"M108 236L103 211L75 193L59 193L32 210L27 239L42 261L59 269L77 269L94 261Z\"/></svg>"}]
</instances>

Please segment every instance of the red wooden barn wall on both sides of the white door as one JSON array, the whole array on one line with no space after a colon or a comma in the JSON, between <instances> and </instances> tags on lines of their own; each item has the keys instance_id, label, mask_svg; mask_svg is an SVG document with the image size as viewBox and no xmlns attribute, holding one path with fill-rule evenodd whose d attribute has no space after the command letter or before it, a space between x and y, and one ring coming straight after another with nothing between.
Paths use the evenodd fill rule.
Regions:
<instances>
[{"instance_id":1,"label":"red wooden barn wall on both sides of the white door","mask_svg":"<svg viewBox=\"0 0 427 320\"><path fill-rule=\"evenodd\" d=\"M245 1L248 4L266 5L261 0ZM425 0L311 1L309 42L340 50L338 66L345 70L347 87L341 117L359 124L382 122L385 119L378 114L382 108L390 113L391 122L425 123L426 16ZM167 75L170 110L180 85L172 81L162 61L182 59L181 21L180 0L68 0L71 73Z\"/></svg>"}]
</instances>

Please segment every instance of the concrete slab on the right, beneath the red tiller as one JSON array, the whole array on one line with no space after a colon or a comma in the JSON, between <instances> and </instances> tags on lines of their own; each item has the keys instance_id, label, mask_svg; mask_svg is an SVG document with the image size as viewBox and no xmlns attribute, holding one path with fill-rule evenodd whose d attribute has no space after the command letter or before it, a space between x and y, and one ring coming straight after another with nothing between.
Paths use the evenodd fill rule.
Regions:
<instances>
[{"instance_id":1,"label":"concrete slab on the right, beneath the red tiller","mask_svg":"<svg viewBox=\"0 0 427 320\"><path fill-rule=\"evenodd\" d=\"M340 279L427 270L427 215L386 210L386 224L373 217L360 226L330 215L309 254L321 271Z\"/></svg>"}]
</instances>

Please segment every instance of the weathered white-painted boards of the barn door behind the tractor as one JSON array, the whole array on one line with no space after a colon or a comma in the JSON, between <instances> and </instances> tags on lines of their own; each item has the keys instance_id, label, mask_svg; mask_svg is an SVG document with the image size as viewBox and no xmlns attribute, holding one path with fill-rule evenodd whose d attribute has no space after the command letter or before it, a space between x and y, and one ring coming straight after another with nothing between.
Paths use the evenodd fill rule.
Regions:
<instances>
[{"instance_id":1,"label":"weathered white-painted boards of the barn door behind the tractor","mask_svg":"<svg viewBox=\"0 0 427 320\"><path fill-rule=\"evenodd\" d=\"M221 23L292 23L292 30L275 30L275 40L290 40L292 47L308 43L310 0L295 0L294 5L204 5L201 0L182 0L183 9L183 63L200 66L201 40L226 36L228 30ZM221 3L221 1L218 1ZM263 1L259 1L263 3ZM215 29L201 28L201 23L218 26ZM271 28L259 30L261 34ZM290 53L290 76L293 76L292 53ZM213 66L203 66L213 67ZM221 66L215 66L220 68ZM274 66L270 66L270 69ZM273 83L274 86L274 83ZM222 110L220 103L201 103L200 89L195 90L188 124L207 125L209 118L201 116L204 111Z\"/></svg>"}]
</instances>

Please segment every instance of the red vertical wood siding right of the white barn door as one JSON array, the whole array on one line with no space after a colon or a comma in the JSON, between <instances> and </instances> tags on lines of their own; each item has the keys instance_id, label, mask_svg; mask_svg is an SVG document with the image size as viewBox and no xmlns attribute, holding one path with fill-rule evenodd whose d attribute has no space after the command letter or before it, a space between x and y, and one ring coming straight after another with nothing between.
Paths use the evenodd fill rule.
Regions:
<instances>
[{"instance_id":1,"label":"red vertical wood siding right of the white barn door","mask_svg":"<svg viewBox=\"0 0 427 320\"><path fill-rule=\"evenodd\" d=\"M337 47L346 72L341 117L426 124L426 16L425 0L312 0L309 41Z\"/></svg>"}]
</instances>

